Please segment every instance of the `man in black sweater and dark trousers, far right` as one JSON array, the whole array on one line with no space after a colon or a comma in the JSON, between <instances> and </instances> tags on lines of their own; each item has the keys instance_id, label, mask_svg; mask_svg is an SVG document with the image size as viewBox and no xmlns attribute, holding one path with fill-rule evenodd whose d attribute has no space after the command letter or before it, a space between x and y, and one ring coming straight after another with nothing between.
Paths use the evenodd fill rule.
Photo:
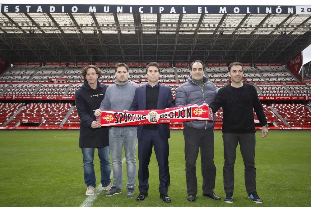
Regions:
<instances>
[{"instance_id":1,"label":"man in black sweater and dark trousers, far right","mask_svg":"<svg viewBox=\"0 0 311 207\"><path fill-rule=\"evenodd\" d=\"M222 107L223 124L222 137L224 140L224 187L225 202L233 203L234 162L236 147L240 151L245 167L245 187L248 197L255 203L262 203L256 191L255 168L255 123L253 109L262 125L262 137L268 135L268 124L262 105L258 99L256 88L243 83L243 67L239 62L233 62L228 67L231 84L221 88L214 101L209 105L213 113Z\"/></svg>"}]
</instances>

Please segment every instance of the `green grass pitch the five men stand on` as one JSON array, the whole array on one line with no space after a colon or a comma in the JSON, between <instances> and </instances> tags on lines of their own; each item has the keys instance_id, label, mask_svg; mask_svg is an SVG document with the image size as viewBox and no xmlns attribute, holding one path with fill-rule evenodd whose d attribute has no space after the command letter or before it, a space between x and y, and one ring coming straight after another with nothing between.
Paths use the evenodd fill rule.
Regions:
<instances>
[{"instance_id":1,"label":"green grass pitch the five men stand on","mask_svg":"<svg viewBox=\"0 0 311 207\"><path fill-rule=\"evenodd\" d=\"M87 198L83 181L82 153L78 131L1 131L0 206L79 206ZM257 191L264 206L310 206L311 203L311 132L270 131L267 138L256 133ZM185 182L184 141L181 131L172 131L169 139L170 187L172 203L159 198L158 165L153 152L149 165L149 191L145 201L125 198L126 176L122 193L104 196L101 192L92 206L249 206L256 205L246 196L244 166L237 149L234 203L223 201L222 134L215 131L215 193L221 201L202 196L200 156L197 160L198 194L189 203ZM95 154L95 173L100 184L99 159ZM138 156L137 156L138 157ZM125 163L124 173L125 171ZM138 159L137 159L138 168Z\"/></svg>"}]
</instances>

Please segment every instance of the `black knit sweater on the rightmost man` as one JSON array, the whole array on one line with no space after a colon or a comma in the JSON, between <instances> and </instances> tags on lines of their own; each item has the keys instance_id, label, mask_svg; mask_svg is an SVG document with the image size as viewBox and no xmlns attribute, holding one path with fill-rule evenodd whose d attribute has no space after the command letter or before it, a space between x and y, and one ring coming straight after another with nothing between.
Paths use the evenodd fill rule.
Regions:
<instances>
[{"instance_id":1,"label":"black knit sweater on the rightmost man","mask_svg":"<svg viewBox=\"0 0 311 207\"><path fill-rule=\"evenodd\" d=\"M267 124L266 115L258 99L256 88L244 83L240 88L234 88L230 84L221 88L214 101L209 105L213 113L222 107L223 133L253 133L255 123L253 108L262 126Z\"/></svg>"}]
</instances>

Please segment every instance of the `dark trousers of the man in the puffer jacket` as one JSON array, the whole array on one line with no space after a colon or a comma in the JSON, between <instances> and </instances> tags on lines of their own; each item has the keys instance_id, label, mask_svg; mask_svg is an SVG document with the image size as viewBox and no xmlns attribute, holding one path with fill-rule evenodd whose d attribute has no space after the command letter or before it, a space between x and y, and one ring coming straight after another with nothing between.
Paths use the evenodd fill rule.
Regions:
<instances>
[{"instance_id":1,"label":"dark trousers of the man in the puffer jacket","mask_svg":"<svg viewBox=\"0 0 311 207\"><path fill-rule=\"evenodd\" d=\"M213 193L215 188L216 167L214 164L214 128L200 130L185 126L186 182L188 195L197 195L196 161L201 152L202 190L204 194Z\"/></svg>"}]
</instances>

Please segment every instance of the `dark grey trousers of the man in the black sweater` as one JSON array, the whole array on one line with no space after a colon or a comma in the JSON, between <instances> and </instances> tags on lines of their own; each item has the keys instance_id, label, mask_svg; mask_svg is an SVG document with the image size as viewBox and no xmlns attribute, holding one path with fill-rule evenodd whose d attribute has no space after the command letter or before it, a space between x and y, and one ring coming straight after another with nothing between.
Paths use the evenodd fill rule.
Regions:
<instances>
[{"instance_id":1,"label":"dark grey trousers of the man in the black sweater","mask_svg":"<svg viewBox=\"0 0 311 207\"><path fill-rule=\"evenodd\" d=\"M224 187L225 192L234 190L234 162L236 147L240 144L240 151L244 162L245 187L248 193L256 191L256 168L255 168L255 133L233 134L223 133L224 139Z\"/></svg>"}]
</instances>

